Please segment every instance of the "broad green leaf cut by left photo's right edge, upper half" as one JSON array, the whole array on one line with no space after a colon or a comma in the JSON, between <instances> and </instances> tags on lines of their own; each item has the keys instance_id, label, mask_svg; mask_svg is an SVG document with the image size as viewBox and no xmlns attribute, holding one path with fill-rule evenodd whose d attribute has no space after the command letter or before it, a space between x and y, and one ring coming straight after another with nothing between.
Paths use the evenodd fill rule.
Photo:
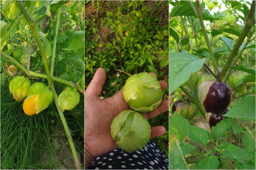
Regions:
<instances>
[{"instance_id":1,"label":"broad green leaf cut by left photo's right edge, upper half","mask_svg":"<svg viewBox=\"0 0 256 170\"><path fill-rule=\"evenodd\" d=\"M69 47L62 50L78 50L84 48L84 31L75 31Z\"/></svg>"}]
</instances>

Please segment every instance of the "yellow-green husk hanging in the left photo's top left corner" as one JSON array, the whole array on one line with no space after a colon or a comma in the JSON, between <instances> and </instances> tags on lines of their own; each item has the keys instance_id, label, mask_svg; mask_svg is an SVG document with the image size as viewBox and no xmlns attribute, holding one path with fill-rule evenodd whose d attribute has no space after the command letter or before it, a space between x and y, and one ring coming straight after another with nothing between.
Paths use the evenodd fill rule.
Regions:
<instances>
[{"instance_id":1,"label":"yellow-green husk hanging in the left photo's top left corner","mask_svg":"<svg viewBox=\"0 0 256 170\"><path fill-rule=\"evenodd\" d=\"M17 5L18 1L5 1L3 5L4 15L9 19L13 20L19 14L20 9Z\"/></svg>"}]
</instances>

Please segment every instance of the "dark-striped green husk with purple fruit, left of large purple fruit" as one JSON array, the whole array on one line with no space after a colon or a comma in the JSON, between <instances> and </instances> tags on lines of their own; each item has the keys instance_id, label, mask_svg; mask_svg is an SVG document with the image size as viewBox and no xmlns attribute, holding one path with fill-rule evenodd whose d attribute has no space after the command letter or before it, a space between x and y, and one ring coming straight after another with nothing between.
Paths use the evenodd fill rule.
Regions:
<instances>
[{"instance_id":1,"label":"dark-striped green husk with purple fruit, left of large purple fruit","mask_svg":"<svg viewBox=\"0 0 256 170\"><path fill-rule=\"evenodd\" d=\"M174 112L179 113L183 118L190 121L197 114L197 106L192 102L177 99L172 105L172 113Z\"/></svg>"}]
</instances>

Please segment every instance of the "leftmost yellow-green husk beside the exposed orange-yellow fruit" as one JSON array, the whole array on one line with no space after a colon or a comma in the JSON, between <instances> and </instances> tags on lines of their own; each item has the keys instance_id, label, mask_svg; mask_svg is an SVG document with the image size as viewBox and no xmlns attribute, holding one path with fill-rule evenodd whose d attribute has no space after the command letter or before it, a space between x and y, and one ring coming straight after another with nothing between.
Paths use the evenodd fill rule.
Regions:
<instances>
[{"instance_id":1,"label":"leftmost yellow-green husk beside the exposed orange-yellow fruit","mask_svg":"<svg viewBox=\"0 0 256 170\"><path fill-rule=\"evenodd\" d=\"M31 82L24 76L14 77L9 84L10 93L16 101L26 98Z\"/></svg>"}]
</instances>

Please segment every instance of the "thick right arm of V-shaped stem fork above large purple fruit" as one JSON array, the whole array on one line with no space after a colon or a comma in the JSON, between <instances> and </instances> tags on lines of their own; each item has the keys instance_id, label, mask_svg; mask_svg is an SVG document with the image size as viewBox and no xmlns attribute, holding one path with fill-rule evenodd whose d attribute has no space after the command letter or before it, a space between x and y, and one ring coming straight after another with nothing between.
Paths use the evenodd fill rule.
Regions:
<instances>
[{"instance_id":1,"label":"thick right arm of V-shaped stem fork above large purple fruit","mask_svg":"<svg viewBox=\"0 0 256 170\"><path fill-rule=\"evenodd\" d=\"M235 47L233 48L232 52L230 53L230 56L227 59L226 64L224 65L222 71L220 72L220 81L224 79L226 76L228 67L232 63L233 59L235 58L235 55L237 54L237 51L239 50L241 44L243 43L247 33L250 31L251 27L255 24L254 22L254 15L255 15L255 1L252 1L251 9L247 15L246 21L245 21L245 27L242 30L242 33L240 34Z\"/></svg>"}]
</instances>

